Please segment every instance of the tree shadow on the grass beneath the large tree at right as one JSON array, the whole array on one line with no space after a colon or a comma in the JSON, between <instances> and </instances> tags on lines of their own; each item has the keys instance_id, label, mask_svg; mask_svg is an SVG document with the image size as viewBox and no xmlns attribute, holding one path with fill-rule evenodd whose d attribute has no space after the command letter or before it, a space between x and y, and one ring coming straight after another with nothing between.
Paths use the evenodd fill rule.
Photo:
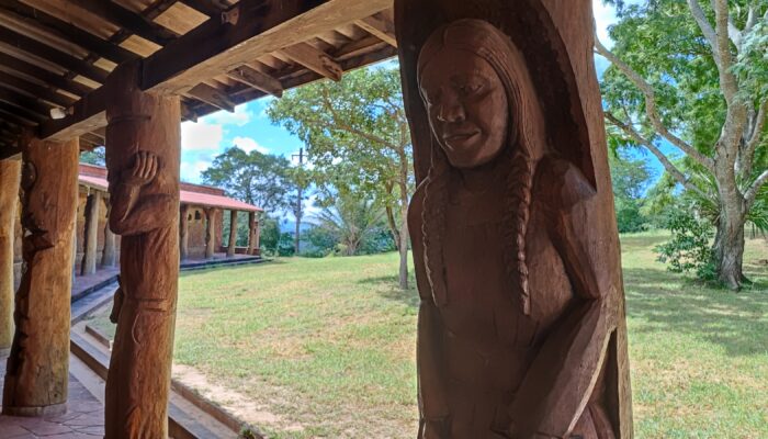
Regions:
<instances>
[{"instance_id":1,"label":"tree shadow on the grass beneath the large tree at right","mask_svg":"<svg viewBox=\"0 0 768 439\"><path fill-rule=\"evenodd\" d=\"M685 281L663 269L625 269L626 313L641 319L630 331L693 335L730 356L768 350L768 289L758 281L741 293Z\"/></svg>"}]
</instances>

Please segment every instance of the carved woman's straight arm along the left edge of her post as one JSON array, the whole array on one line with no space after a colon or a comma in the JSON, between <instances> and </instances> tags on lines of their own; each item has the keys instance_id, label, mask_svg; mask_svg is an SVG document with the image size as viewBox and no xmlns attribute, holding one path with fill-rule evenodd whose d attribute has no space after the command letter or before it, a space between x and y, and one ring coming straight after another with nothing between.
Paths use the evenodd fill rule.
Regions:
<instances>
[{"instance_id":1,"label":"carved woman's straight arm along the left edge of her post","mask_svg":"<svg viewBox=\"0 0 768 439\"><path fill-rule=\"evenodd\" d=\"M420 438L444 437L443 430L449 427L450 416L448 399L444 394L442 354L442 317L438 309L432 290L427 279L423 260L423 235L421 232L421 213L423 212L423 183L416 190L408 207L408 229L410 232L416 268L416 284L419 290L421 305L419 307L418 340L416 362L419 380L419 410L422 430Z\"/></svg>"}]
</instances>

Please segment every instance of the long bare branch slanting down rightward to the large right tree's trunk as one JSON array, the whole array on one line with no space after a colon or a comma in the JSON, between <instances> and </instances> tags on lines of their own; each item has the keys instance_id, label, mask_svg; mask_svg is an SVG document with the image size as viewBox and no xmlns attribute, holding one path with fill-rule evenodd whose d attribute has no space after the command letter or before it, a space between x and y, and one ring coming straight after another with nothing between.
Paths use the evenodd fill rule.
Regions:
<instances>
[{"instance_id":1,"label":"long bare branch slanting down rightward to the large right tree's trunk","mask_svg":"<svg viewBox=\"0 0 768 439\"><path fill-rule=\"evenodd\" d=\"M643 93L643 95L645 97L645 111L654 130L656 130L658 134L664 136L667 140L669 140L673 145L678 147L689 157L698 161L710 172L714 172L714 161L711 158L704 156L699 150L688 145L681 138L669 132L669 130L667 130L666 126L664 126L664 123L662 122L656 111L656 94L653 87L636 71L634 71L629 65L626 65L626 63L622 61L612 52L608 50L608 48L606 48L606 46L603 46L602 43L600 43L600 40L598 38L597 34L595 35L595 48L597 49L598 54L605 56L614 66L617 66Z\"/></svg>"}]
</instances>

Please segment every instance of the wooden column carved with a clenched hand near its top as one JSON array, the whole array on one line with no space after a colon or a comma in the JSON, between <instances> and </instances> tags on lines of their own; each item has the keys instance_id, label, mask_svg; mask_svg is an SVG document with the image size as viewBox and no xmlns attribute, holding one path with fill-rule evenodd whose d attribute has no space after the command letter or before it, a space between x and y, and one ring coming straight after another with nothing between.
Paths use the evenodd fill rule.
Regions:
<instances>
[{"instance_id":1,"label":"wooden column carved with a clenched hand near its top","mask_svg":"<svg viewBox=\"0 0 768 439\"><path fill-rule=\"evenodd\" d=\"M179 278L178 97L138 88L138 64L106 82L110 227L122 236L105 438L167 438Z\"/></svg>"}]
</instances>

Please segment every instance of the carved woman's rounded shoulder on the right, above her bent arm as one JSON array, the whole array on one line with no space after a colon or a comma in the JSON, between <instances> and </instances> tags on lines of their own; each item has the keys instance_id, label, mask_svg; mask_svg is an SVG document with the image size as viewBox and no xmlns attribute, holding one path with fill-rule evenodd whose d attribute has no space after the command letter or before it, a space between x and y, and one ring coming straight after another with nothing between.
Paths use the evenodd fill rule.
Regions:
<instances>
[{"instance_id":1,"label":"carved woman's rounded shoulder on the right, above her bent arm","mask_svg":"<svg viewBox=\"0 0 768 439\"><path fill-rule=\"evenodd\" d=\"M569 160L546 155L537 164L533 198L546 207L567 211L595 194L589 180Z\"/></svg>"}]
</instances>

